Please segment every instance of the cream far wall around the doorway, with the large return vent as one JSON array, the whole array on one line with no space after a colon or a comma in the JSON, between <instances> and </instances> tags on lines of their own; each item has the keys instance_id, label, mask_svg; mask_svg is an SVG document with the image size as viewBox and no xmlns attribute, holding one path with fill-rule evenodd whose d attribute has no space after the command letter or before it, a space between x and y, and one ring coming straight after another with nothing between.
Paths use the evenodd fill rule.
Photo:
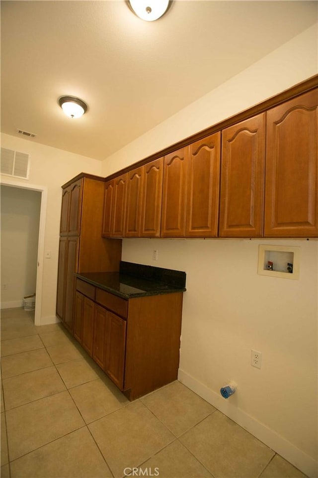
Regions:
<instances>
[{"instance_id":1,"label":"cream far wall around the doorway, with the large return vent","mask_svg":"<svg viewBox=\"0 0 318 478\"><path fill-rule=\"evenodd\" d=\"M28 184L47 187L44 250L51 251L51 259L44 259L42 257L41 323L54 322L56 320L56 289L62 201L61 186L80 172L100 176L101 162L3 133L1 134L1 146L30 154L29 179L19 179L19 183L23 182L26 187ZM8 176L2 176L1 180L4 182L15 182Z\"/></svg>"}]
</instances>

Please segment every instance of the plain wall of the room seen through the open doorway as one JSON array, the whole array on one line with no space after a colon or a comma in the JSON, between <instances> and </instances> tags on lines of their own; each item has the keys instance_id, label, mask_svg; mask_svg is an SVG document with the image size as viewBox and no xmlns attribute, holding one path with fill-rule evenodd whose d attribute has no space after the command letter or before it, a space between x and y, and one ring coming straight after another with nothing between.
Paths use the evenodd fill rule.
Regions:
<instances>
[{"instance_id":1,"label":"plain wall of the room seen through the open doorway","mask_svg":"<svg viewBox=\"0 0 318 478\"><path fill-rule=\"evenodd\" d=\"M40 209L39 191L1 186L1 308L36 290Z\"/></svg>"}]
</instances>

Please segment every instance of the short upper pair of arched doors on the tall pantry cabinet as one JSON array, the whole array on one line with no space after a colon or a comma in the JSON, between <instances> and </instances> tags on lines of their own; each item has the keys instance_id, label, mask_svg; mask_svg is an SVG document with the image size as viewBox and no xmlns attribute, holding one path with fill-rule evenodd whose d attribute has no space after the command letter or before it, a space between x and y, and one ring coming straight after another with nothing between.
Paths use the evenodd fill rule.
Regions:
<instances>
[{"instance_id":1,"label":"short upper pair of arched doors on the tall pantry cabinet","mask_svg":"<svg viewBox=\"0 0 318 478\"><path fill-rule=\"evenodd\" d=\"M60 235L79 236L82 179L63 190Z\"/></svg>"}]
</instances>

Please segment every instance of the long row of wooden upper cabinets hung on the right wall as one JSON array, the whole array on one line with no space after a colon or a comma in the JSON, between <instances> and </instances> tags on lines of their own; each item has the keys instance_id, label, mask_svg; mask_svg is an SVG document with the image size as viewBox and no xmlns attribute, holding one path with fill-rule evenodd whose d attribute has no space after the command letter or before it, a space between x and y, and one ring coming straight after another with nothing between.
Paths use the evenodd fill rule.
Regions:
<instances>
[{"instance_id":1,"label":"long row of wooden upper cabinets hung on the right wall","mask_svg":"<svg viewBox=\"0 0 318 478\"><path fill-rule=\"evenodd\" d=\"M102 235L318 237L318 90L287 98L267 100L108 181ZM66 212L71 191L64 201L63 230L75 218Z\"/></svg>"}]
</instances>

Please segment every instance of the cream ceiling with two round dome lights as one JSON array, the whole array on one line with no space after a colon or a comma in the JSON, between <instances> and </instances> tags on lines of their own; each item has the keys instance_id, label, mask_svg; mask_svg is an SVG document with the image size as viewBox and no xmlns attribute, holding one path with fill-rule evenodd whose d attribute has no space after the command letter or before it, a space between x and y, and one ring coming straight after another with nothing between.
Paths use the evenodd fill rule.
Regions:
<instances>
[{"instance_id":1,"label":"cream ceiling with two round dome lights","mask_svg":"<svg viewBox=\"0 0 318 478\"><path fill-rule=\"evenodd\" d=\"M103 160L317 22L317 1L1 1L1 131ZM69 119L59 97L88 105Z\"/></svg>"}]
</instances>

